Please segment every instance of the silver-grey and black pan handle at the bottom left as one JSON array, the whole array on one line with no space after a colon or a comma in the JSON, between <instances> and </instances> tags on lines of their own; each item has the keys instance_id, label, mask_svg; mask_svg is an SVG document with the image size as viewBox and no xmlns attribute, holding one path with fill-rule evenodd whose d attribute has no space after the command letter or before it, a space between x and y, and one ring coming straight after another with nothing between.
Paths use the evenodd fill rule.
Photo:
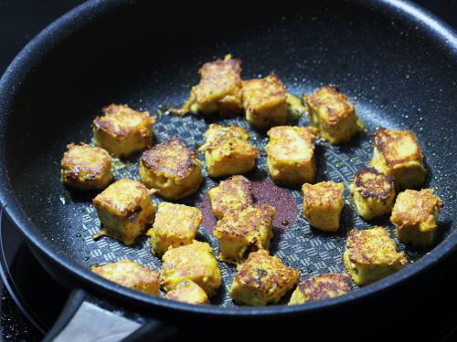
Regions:
<instances>
[{"instance_id":1,"label":"silver-grey and black pan handle at the bottom left","mask_svg":"<svg viewBox=\"0 0 457 342\"><path fill-rule=\"evenodd\" d=\"M122 309L106 309L97 304L101 299L83 289L69 295L56 323L44 337L44 342L117 342L165 341L175 335L175 326L152 318L128 315Z\"/></svg>"}]
</instances>

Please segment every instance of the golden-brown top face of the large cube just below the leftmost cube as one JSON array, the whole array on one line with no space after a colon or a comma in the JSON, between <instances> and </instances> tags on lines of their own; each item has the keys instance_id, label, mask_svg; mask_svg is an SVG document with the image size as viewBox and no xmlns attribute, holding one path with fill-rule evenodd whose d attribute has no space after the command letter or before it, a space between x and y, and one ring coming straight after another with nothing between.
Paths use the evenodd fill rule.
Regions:
<instances>
[{"instance_id":1,"label":"golden-brown top face of the large cube just below the leftmost cube","mask_svg":"<svg viewBox=\"0 0 457 342\"><path fill-rule=\"evenodd\" d=\"M154 190L148 190L139 181L123 178L99 193L92 203L107 209L116 216L132 217L143 210L141 202L144 196L149 196L154 192Z\"/></svg>"}]
</instances>

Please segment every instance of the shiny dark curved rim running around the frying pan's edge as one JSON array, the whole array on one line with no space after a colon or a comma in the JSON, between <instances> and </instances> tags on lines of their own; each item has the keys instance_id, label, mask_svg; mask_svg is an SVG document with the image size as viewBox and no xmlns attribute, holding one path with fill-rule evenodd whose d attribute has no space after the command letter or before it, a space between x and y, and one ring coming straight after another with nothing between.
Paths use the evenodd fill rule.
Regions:
<instances>
[{"instance_id":1,"label":"shiny dark curved rim running around the frying pan's edge","mask_svg":"<svg viewBox=\"0 0 457 342\"><path fill-rule=\"evenodd\" d=\"M457 59L457 35L447 24L443 23L436 16L418 5L405 0L369 0L355 2L366 6L376 7L379 11L385 11L389 15L399 18L401 21L414 23L427 34L447 49L452 57ZM7 67L5 74L0 78L0 119L7 119L9 105L12 104L16 95L16 88L21 84L27 73L39 65L39 60L45 57L53 47L71 36L84 26L98 20L101 16L116 10L121 6L132 5L129 0L90 0L70 10L64 16L47 26L35 36L26 47L15 57ZM0 125L0 138L5 137L6 125ZM21 208L12 185L9 181L5 168L5 140L0 139L0 202L7 217L15 223L16 227L25 235L27 242L40 253L46 254L53 262L57 263L69 274L75 276L85 284L95 285L97 292L103 292L112 297L121 295L133 301L134 305L151 307L157 306L165 310L181 311L183 313L194 313L208 316L294 316L310 314L313 312L329 309L335 306L353 303L366 298L368 295L386 291L393 285L399 285L412 277L418 276L430 269L430 267L443 260L445 256L457 250L457 232L451 233L441 244L420 258L419 261L410 264L409 267L401 270L396 275L378 281L372 285L359 288L346 295L327 299L321 302L313 302L299 306L264 306L264 307L221 307L221 306L191 306L183 303L165 300L163 298L144 295L140 292L115 285L97 275L92 274L82 265L77 264L66 254L62 254L56 246L50 244L40 235L37 227L27 217L27 213Z\"/></svg>"}]
</instances>

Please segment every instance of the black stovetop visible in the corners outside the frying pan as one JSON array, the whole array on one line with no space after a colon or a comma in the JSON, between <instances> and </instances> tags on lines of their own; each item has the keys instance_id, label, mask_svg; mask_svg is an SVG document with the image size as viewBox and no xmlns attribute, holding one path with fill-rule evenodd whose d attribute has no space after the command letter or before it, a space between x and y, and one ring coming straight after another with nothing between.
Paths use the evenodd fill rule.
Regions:
<instances>
[{"instance_id":1,"label":"black stovetop visible in the corners outside the frying pan","mask_svg":"<svg viewBox=\"0 0 457 342\"><path fill-rule=\"evenodd\" d=\"M81 2L0 0L0 73L40 29ZM457 27L457 0L416 2ZM5 215L0 220L0 239L0 340L40 340L57 318L69 291L46 274ZM392 313L385 323L397 322L397 328L410 330L411 339L457 340L456 266L454 257L416 303L405 304L403 311Z\"/></svg>"}]
</instances>

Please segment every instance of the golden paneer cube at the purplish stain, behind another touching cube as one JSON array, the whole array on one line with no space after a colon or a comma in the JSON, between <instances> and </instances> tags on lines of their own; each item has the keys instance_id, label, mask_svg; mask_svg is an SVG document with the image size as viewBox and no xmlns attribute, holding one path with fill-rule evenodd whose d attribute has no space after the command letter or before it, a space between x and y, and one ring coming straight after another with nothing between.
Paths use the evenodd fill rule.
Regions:
<instances>
[{"instance_id":1,"label":"golden paneer cube at the purplish stain, behind another touching cube","mask_svg":"<svg viewBox=\"0 0 457 342\"><path fill-rule=\"evenodd\" d=\"M226 213L239 212L253 203L250 181L243 176L221 181L218 186L209 189L208 194L211 209L218 220Z\"/></svg>"}]
</instances>

